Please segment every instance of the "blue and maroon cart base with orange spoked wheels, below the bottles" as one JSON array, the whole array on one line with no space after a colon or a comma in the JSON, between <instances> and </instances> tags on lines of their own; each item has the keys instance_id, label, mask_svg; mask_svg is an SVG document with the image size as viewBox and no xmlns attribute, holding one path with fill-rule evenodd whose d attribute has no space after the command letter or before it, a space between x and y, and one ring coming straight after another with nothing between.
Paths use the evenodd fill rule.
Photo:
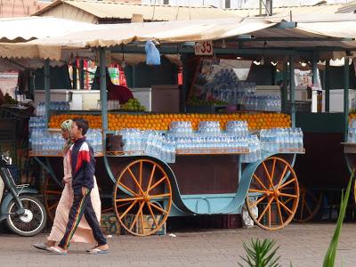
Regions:
<instances>
[{"instance_id":1,"label":"blue and maroon cart base with orange spoked wheels, below the bottles","mask_svg":"<svg viewBox=\"0 0 356 267\"><path fill-rule=\"evenodd\" d=\"M297 153L263 154L261 160L243 164L240 156L247 152L177 151L174 164L106 152L96 155L95 175L102 201L110 199L117 221L134 235L159 231L168 216L240 214L244 204L258 226L278 230L291 222L298 205ZM51 175L44 184L44 204L53 214L61 194L62 159L32 156ZM153 222L142 227L148 216Z\"/></svg>"}]
</instances>

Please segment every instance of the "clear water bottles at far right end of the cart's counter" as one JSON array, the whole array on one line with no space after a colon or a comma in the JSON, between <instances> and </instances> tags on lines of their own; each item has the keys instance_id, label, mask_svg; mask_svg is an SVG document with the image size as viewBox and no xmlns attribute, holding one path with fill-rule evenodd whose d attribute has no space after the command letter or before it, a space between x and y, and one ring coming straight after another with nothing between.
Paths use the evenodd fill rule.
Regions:
<instances>
[{"instance_id":1,"label":"clear water bottles at far right end of the cart's counter","mask_svg":"<svg viewBox=\"0 0 356 267\"><path fill-rule=\"evenodd\" d=\"M303 132L301 128L273 128L262 130L261 148L265 151L303 152Z\"/></svg>"}]
</instances>

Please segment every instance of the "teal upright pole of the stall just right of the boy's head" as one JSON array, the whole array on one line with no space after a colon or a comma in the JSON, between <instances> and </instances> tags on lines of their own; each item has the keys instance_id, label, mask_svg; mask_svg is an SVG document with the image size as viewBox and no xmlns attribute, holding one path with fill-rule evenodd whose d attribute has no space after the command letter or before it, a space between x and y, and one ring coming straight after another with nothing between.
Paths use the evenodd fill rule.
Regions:
<instances>
[{"instance_id":1,"label":"teal upright pole of the stall just right of the boy's head","mask_svg":"<svg viewBox=\"0 0 356 267\"><path fill-rule=\"evenodd\" d=\"M104 134L108 131L108 105L106 88L105 48L100 48L100 90L101 90L101 120ZM105 139L105 135L104 135Z\"/></svg>"}]
</instances>

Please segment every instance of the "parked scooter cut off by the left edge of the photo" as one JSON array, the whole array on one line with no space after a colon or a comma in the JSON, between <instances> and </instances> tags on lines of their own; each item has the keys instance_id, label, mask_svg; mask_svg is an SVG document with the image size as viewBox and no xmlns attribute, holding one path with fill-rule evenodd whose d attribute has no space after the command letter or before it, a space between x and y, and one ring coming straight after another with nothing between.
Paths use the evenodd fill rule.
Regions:
<instances>
[{"instance_id":1,"label":"parked scooter cut off by the left edge of the photo","mask_svg":"<svg viewBox=\"0 0 356 267\"><path fill-rule=\"evenodd\" d=\"M1 155L0 179L4 181L4 198L0 199L0 222L6 220L14 233L31 237L40 233L45 226L47 214L44 205L36 198L38 190L28 184L16 184L10 172L12 158Z\"/></svg>"}]
</instances>

